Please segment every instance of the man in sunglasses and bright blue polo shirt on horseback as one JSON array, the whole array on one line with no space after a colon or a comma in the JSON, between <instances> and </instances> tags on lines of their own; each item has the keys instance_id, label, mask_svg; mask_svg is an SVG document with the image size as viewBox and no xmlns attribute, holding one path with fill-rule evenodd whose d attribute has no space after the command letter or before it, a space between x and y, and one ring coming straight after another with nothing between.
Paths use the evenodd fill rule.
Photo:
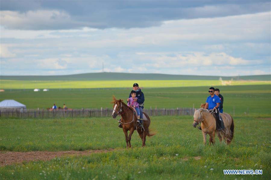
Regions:
<instances>
[{"instance_id":1,"label":"man in sunglasses and bright blue polo shirt on horseback","mask_svg":"<svg viewBox=\"0 0 271 180\"><path fill-rule=\"evenodd\" d=\"M207 109L209 111L213 111L215 117L216 117L216 130L217 131L222 131L222 122L219 119L219 104L220 104L220 98L215 95L215 88L210 87L209 88L209 94L210 96L206 99L206 104L204 109ZM201 127L199 127L199 129L201 130Z\"/></svg>"}]
</instances>

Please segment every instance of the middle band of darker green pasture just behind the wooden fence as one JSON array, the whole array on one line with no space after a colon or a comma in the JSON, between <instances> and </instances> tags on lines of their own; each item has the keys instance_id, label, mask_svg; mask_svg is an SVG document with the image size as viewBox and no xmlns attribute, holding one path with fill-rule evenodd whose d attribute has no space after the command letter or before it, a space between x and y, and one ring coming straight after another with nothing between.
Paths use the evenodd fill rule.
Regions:
<instances>
[{"instance_id":1,"label":"middle band of darker green pasture just behind the wooden fence","mask_svg":"<svg viewBox=\"0 0 271 180\"><path fill-rule=\"evenodd\" d=\"M205 103L210 86L143 88L145 108L199 108ZM224 96L224 111L232 115L270 116L270 85L216 86ZM0 100L14 99L27 108L47 108L55 103L69 108L112 108L112 95L126 99L131 88L51 89L49 92L6 90ZM233 109L235 112L233 112Z\"/></svg>"}]
</instances>

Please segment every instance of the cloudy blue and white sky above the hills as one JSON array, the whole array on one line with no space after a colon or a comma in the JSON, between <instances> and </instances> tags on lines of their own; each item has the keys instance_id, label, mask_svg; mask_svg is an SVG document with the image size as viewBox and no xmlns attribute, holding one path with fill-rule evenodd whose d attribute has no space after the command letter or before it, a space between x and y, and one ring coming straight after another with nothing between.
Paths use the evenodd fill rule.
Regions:
<instances>
[{"instance_id":1,"label":"cloudy blue and white sky above the hills","mask_svg":"<svg viewBox=\"0 0 271 180\"><path fill-rule=\"evenodd\" d=\"M270 12L270 1L1 0L0 75L270 74Z\"/></svg>"}]
</instances>

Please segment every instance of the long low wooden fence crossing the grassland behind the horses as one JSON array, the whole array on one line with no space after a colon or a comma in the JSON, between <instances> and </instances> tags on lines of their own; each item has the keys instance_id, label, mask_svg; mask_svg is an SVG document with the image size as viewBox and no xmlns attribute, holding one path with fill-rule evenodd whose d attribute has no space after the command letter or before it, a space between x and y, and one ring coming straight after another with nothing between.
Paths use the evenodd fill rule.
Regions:
<instances>
[{"instance_id":1,"label":"long low wooden fence crossing the grassland behind the horses","mask_svg":"<svg viewBox=\"0 0 271 180\"><path fill-rule=\"evenodd\" d=\"M44 109L21 109L0 110L1 118L77 118L77 117L110 117L113 109L73 109L73 110L44 110ZM149 116L176 116L193 115L193 108L176 109L144 109Z\"/></svg>"}]
</instances>

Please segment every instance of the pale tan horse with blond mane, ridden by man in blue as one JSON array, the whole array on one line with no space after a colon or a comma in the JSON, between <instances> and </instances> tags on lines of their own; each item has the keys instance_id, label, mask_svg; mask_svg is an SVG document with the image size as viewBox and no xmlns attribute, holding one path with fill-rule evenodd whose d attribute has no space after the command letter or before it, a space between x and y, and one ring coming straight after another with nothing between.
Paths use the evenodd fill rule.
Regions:
<instances>
[{"instance_id":1,"label":"pale tan horse with blond mane, ridden by man in blue","mask_svg":"<svg viewBox=\"0 0 271 180\"><path fill-rule=\"evenodd\" d=\"M232 142L234 132L232 116L227 113L219 113L219 115L223 119L224 129L217 132L217 136L220 142L222 139L225 139L225 142L230 144ZM209 110L203 108L195 110L193 127L197 127L199 123L201 123L200 126L202 129L203 143L206 144L206 135L209 134L209 145L211 142L214 144L216 135L216 119L213 116L213 113L210 113Z\"/></svg>"}]
</instances>

